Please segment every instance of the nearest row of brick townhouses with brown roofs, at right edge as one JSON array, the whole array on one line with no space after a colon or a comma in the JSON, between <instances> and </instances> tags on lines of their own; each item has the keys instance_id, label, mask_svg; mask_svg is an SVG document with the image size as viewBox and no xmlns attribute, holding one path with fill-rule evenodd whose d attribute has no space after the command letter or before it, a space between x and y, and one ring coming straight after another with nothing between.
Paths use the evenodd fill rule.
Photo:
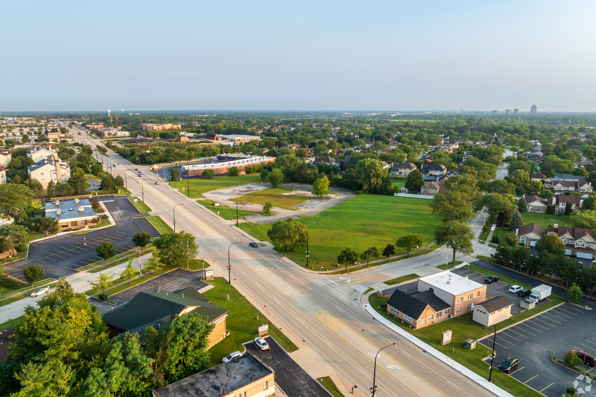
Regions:
<instances>
[{"instance_id":1,"label":"nearest row of brick townhouses with brown roofs, at right edge","mask_svg":"<svg viewBox=\"0 0 596 397\"><path fill-rule=\"evenodd\" d=\"M591 229L559 226L557 223L544 229L538 224L530 223L516 230L519 243L527 247L535 246L540 237L547 233L554 233L565 243L565 255L576 255L576 261L591 265L596 254L596 239Z\"/></svg>"}]
</instances>

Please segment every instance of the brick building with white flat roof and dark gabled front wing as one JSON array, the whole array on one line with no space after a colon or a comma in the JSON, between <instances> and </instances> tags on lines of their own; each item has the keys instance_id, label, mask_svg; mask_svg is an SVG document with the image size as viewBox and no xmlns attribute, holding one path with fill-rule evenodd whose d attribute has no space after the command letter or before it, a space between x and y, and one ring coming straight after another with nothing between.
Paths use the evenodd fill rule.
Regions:
<instances>
[{"instance_id":1,"label":"brick building with white flat roof and dark gabled front wing","mask_svg":"<svg viewBox=\"0 0 596 397\"><path fill-rule=\"evenodd\" d=\"M387 301L387 312L418 329L468 313L485 298L485 284L443 271L418 279L415 293L396 289Z\"/></svg>"}]
</instances>

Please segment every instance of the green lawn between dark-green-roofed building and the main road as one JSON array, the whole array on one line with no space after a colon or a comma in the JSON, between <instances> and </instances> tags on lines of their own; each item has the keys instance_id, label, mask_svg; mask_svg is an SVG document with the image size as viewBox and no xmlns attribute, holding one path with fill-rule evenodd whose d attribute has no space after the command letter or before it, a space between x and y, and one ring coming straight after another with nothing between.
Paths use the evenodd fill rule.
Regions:
<instances>
[{"instance_id":1,"label":"green lawn between dark-green-roofed building and the main road","mask_svg":"<svg viewBox=\"0 0 596 397\"><path fill-rule=\"evenodd\" d=\"M242 343L259 336L257 329L262 324L269 324L269 335L274 337L288 352L298 350L298 347L282 333L282 330L271 324L238 290L229 285L226 279L215 277L209 281L209 284L214 287L204 292L203 295L209 298L211 304L229 309L226 318L226 329L229 331L229 336L209 349L211 367L221 364L222 358L231 352L244 351ZM229 301L226 299L226 295L229 295Z\"/></svg>"}]
</instances>

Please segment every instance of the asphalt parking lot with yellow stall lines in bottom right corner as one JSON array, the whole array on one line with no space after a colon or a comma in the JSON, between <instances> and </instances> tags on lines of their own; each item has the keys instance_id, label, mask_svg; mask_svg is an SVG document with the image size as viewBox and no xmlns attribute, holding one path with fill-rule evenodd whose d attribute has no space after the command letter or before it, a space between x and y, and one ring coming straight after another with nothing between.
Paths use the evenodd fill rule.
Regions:
<instances>
[{"instance_id":1,"label":"asphalt parking lot with yellow stall lines in bottom right corner","mask_svg":"<svg viewBox=\"0 0 596 397\"><path fill-rule=\"evenodd\" d=\"M596 337L593 336L595 323L595 310L586 310L570 303L552 308L498 332L493 365L496 367L508 358L517 358L520 364L511 376L549 397L560 396L567 387L572 386L575 374L552 362L550 357L555 354L563 360L570 349L596 353ZM493 335L490 341L487 337L482 343L492 347ZM594 367L586 365L585 369L588 373L596 374ZM586 385L583 382L583 387ZM594 395L596 388L582 394Z\"/></svg>"}]
</instances>

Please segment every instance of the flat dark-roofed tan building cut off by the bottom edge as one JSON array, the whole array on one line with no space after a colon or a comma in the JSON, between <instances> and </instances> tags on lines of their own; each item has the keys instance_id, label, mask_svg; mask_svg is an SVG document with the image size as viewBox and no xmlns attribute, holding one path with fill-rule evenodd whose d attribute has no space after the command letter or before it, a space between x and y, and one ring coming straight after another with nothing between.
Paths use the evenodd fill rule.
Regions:
<instances>
[{"instance_id":1,"label":"flat dark-roofed tan building cut off by the bottom edge","mask_svg":"<svg viewBox=\"0 0 596 397\"><path fill-rule=\"evenodd\" d=\"M274 397L274 371L251 352L159 390L153 397Z\"/></svg>"}]
</instances>

